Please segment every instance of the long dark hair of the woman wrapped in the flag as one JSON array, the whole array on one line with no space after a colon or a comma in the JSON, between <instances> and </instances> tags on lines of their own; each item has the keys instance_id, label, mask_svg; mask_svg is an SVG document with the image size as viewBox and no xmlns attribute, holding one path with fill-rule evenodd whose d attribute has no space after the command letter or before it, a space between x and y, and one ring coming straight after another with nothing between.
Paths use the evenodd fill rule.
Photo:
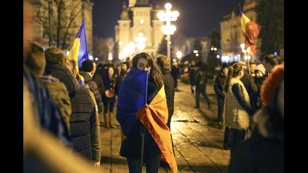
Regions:
<instances>
[{"instance_id":1,"label":"long dark hair of the woman wrapped in the flag","mask_svg":"<svg viewBox=\"0 0 308 173\"><path fill-rule=\"evenodd\" d=\"M156 63L154 62L154 58L146 52L137 53L131 60L131 66L137 68L137 63L140 58L145 58L146 60L148 60L151 67L150 74L154 78L154 81L156 83L156 89L158 89L163 81L163 76L162 72L158 69Z\"/></svg>"}]
</instances>

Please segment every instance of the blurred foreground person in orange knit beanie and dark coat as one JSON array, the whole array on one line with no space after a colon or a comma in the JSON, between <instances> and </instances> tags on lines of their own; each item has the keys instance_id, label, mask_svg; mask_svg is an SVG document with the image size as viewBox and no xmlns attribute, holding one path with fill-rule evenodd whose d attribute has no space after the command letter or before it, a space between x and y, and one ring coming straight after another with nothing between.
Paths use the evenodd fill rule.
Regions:
<instances>
[{"instance_id":1,"label":"blurred foreground person in orange knit beanie and dark coat","mask_svg":"<svg viewBox=\"0 0 308 173\"><path fill-rule=\"evenodd\" d=\"M265 107L254 114L255 130L231 157L229 173L284 172L284 63L261 88Z\"/></svg>"}]
</instances>

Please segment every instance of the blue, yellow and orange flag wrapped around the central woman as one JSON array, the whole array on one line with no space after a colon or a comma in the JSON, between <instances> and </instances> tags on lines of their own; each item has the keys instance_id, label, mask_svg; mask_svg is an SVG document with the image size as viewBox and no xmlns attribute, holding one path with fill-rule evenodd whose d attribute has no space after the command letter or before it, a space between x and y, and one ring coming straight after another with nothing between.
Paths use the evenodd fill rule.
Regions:
<instances>
[{"instance_id":1,"label":"blue, yellow and orange flag wrapped around the central woman","mask_svg":"<svg viewBox=\"0 0 308 173\"><path fill-rule=\"evenodd\" d=\"M162 151L161 159L169 164L173 173L177 173L178 167L173 154L170 130L166 125L168 108L165 89L162 86L151 103L147 105L147 79L148 71L133 67L121 84L116 117L121 125L122 141L128 136L138 118Z\"/></svg>"}]
</instances>

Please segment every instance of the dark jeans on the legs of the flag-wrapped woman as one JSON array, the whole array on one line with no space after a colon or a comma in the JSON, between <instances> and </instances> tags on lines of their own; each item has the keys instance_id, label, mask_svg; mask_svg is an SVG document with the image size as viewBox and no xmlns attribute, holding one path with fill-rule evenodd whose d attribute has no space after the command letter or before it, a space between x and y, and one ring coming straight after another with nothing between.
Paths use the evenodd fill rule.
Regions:
<instances>
[{"instance_id":1,"label":"dark jeans on the legs of the flag-wrapped woman","mask_svg":"<svg viewBox=\"0 0 308 173\"><path fill-rule=\"evenodd\" d=\"M154 159L146 159L146 173L157 173L159 169L161 155ZM140 172L140 159L126 158L129 173L141 173Z\"/></svg>"}]
</instances>

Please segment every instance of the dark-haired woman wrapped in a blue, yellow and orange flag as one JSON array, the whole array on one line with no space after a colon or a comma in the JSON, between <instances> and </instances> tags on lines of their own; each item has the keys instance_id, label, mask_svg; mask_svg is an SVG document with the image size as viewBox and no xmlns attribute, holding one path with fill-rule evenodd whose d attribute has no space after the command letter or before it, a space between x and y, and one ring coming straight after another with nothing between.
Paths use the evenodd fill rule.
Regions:
<instances>
[{"instance_id":1,"label":"dark-haired woman wrapped in a blue, yellow and orange flag","mask_svg":"<svg viewBox=\"0 0 308 173\"><path fill-rule=\"evenodd\" d=\"M140 172L141 135L144 133L143 159L146 172L157 173L160 160L178 171L167 127L168 109L163 76L154 58L146 52L136 54L132 68L118 93L116 118L121 125L120 156L126 157L129 172Z\"/></svg>"}]
</instances>

